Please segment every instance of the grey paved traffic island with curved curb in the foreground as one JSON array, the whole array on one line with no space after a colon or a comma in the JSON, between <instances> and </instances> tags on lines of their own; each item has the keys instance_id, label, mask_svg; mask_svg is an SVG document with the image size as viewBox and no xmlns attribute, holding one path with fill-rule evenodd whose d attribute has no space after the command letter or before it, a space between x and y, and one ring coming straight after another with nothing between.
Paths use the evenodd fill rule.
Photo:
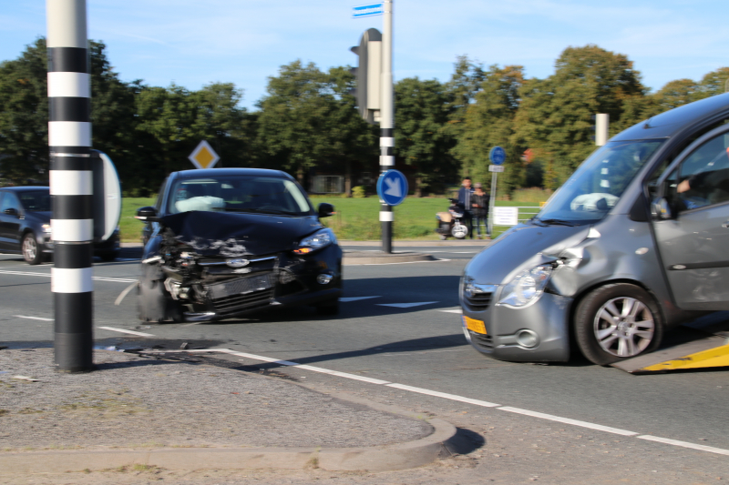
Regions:
<instances>
[{"instance_id":1,"label":"grey paved traffic island with curved curb in the foreground","mask_svg":"<svg viewBox=\"0 0 729 485\"><path fill-rule=\"evenodd\" d=\"M125 466L403 470L458 447L441 419L199 354L95 350L94 362L98 370L69 374L56 371L53 349L0 347L0 477Z\"/></svg>"}]
</instances>

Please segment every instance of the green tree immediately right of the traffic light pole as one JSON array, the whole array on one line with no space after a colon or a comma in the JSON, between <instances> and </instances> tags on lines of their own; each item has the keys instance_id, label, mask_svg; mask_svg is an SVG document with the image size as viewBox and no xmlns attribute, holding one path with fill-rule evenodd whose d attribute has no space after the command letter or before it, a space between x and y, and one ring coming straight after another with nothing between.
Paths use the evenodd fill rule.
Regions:
<instances>
[{"instance_id":1,"label":"green tree immediately right of the traffic light pole","mask_svg":"<svg viewBox=\"0 0 729 485\"><path fill-rule=\"evenodd\" d=\"M395 156L415 171L415 194L457 174L447 129L451 97L446 86L408 77L395 85Z\"/></svg>"}]
</instances>

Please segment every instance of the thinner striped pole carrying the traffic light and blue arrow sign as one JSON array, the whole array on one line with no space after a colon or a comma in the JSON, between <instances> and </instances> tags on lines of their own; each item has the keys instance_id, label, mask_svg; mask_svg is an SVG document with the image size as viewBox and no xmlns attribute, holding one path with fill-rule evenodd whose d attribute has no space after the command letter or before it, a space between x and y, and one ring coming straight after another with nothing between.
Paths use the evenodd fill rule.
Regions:
<instances>
[{"instance_id":1,"label":"thinner striped pole carrying the traffic light and blue arrow sign","mask_svg":"<svg viewBox=\"0 0 729 485\"><path fill-rule=\"evenodd\" d=\"M385 0L382 35L380 175L395 168L395 87L393 84L393 0ZM393 207L381 201L382 250L393 252Z\"/></svg>"}]
</instances>

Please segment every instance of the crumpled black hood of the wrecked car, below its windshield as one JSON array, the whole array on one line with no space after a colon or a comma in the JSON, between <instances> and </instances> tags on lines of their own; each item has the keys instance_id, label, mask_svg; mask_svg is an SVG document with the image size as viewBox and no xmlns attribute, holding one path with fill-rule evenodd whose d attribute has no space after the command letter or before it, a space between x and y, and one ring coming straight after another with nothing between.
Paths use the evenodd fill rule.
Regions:
<instances>
[{"instance_id":1,"label":"crumpled black hood of the wrecked car, below its windshield","mask_svg":"<svg viewBox=\"0 0 729 485\"><path fill-rule=\"evenodd\" d=\"M226 258L290 251L323 227L312 217L202 211L161 217L161 223L200 256Z\"/></svg>"}]
</instances>

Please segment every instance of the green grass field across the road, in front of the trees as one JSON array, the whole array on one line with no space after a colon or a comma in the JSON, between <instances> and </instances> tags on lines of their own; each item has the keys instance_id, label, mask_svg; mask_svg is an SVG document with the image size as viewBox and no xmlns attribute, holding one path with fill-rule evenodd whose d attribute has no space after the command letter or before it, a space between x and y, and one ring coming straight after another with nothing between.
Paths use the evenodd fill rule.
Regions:
<instances>
[{"instance_id":1,"label":"green grass field across the road, in front of the trees","mask_svg":"<svg viewBox=\"0 0 729 485\"><path fill-rule=\"evenodd\" d=\"M154 197L125 197L122 200L119 230L122 242L139 242L144 224L134 218L139 207L151 206ZM333 217L322 219L327 227L342 240L366 241L380 239L380 203L377 197L344 198L312 197L314 207L322 202L332 204L336 210ZM405 202L394 207L395 223L393 237L407 240L437 240L436 212L448 209L446 197L407 197ZM539 207L539 202L519 202L497 200L497 207ZM520 209L519 219L529 218L534 209ZM494 227L492 237L507 230L508 227Z\"/></svg>"}]
</instances>

